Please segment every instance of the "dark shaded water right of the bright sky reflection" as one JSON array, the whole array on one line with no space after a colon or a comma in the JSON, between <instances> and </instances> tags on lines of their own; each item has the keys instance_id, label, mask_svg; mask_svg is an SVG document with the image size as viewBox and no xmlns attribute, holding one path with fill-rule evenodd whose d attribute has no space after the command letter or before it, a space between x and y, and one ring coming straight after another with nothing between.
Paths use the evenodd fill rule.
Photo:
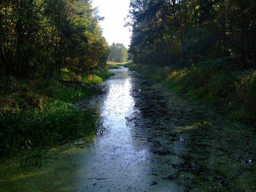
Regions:
<instances>
[{"instance_id":1,"label":"dark shaded water right of the bright sky reflection","mask_svg":"<svg viewBox=\"0 0 256 192\"><path fill-rule=\"evenodd\" d=\"M163 179L190 191L256 190L255 130L226 120L210 105L138 79L132 90L136 112L127 119L136 138L147 139L152 159L174 169Z\"/></svg>"}]
</instances>

